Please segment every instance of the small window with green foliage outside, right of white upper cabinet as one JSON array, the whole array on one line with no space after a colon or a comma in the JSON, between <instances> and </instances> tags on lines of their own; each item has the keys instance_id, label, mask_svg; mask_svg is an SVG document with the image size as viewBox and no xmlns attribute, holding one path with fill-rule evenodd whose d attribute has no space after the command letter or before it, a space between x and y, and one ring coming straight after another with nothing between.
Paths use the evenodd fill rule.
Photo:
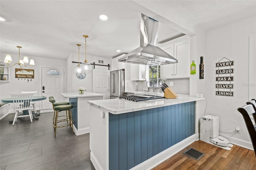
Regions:
<instances>
[{"instance_id":1,"label":"small window with green foliage outside, right of white upper cabinet","mask_svg":"<svg viewBox=\"0 0 256 170\"><path fill-rule=\"evenodd\" d=\"M159 87L160 86L160 65L149 66L149 86Z\"/></svg>"}]
</instances>

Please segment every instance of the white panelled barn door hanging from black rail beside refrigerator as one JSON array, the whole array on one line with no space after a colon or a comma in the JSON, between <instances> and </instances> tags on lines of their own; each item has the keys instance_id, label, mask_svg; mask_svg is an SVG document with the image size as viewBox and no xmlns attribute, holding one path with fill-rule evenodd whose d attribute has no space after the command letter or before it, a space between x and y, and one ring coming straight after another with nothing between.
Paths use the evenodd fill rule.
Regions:
<instances>
[{"instance_id":1,"label":"white panelled barn door hanging from black rail beside refrigerator","mask_svg":"<svg viewBox=\"0 0 256 170\"><path fill-rule=\"evenodd\" d=\"M106 66L96 65L92 69L92 92L103 94L103 99L109 99L110 70Z\"/></svg>"}]
</instances>

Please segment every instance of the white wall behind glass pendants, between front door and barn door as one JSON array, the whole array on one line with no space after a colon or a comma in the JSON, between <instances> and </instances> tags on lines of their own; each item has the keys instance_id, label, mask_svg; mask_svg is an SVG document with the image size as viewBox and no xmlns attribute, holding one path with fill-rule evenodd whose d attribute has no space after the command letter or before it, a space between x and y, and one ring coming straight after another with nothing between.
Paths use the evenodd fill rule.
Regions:
<instances>
[{"instance_id":1,"label":"white wall behind glass pendants, between front door and barn door","mask_svg":"<svg viewBox=\"0 0 256 170\"><path fill-rule=\"evenodd\" d=\"M91 55L87 55L86 59L89 63L95 62L98 64L98 60L103 60L104 63L102 65L111 65L111 58L104 57L95 57ZM77 92L77 88L82 86L85 87L86 92L92 92L92 72L86 74L84 79L78 79L74 73L74 68L78 65L78 63L72 63L72 61L78 62L78 53L71 53L70 56L66 59L66 79L67 79L67 89L66 92ZM84 61L84 56L80 54L80 62ZM93 69L93 65L92 65Z\"/></svg>"}]
</instances>

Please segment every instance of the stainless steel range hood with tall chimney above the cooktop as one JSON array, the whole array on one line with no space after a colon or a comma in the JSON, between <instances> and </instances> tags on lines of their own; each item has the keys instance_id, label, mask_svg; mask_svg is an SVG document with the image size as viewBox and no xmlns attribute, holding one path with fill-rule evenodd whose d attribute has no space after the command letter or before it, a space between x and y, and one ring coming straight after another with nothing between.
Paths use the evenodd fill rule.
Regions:
<instances>
[{"instance_id":1,"label":"stainless steel range hood with tall chimney above the cooktop","mask_svg":"<svg viewBox=\"0 0 256 170\"><path fill-rule=\"evenodd\" d=\"M178 63L177 59L156 46L157 41L158 21L141 14L140 47L124 55L118 61L144 65Z\"/></svg>"}]
</instances>

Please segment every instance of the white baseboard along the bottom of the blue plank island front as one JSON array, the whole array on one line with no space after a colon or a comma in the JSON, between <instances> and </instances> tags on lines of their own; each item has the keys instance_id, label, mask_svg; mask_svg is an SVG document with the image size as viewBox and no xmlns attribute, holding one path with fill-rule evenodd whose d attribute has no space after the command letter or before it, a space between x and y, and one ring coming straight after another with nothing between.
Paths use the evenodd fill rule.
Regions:
<instances>
[{"instance_id":1,"label":"white baseboard along the bottom of the blue plank island front","mask_svg":"<svg viewBox=\"0 0 256 170\"><path fill-rule=\"evenodd\" d=\"M164 162L166 159L170 158L174 154L180 152L182 149L186 148L188 145L198 140L198 136L199 134L193 134L192 136L160 152L159 154L153 156L152 158L149 158L148 160L138 164L137 166L134 166L133 168L131 168L131 170L150 170L154 168L158 164Z\"/></svg>"}]
</instances>

